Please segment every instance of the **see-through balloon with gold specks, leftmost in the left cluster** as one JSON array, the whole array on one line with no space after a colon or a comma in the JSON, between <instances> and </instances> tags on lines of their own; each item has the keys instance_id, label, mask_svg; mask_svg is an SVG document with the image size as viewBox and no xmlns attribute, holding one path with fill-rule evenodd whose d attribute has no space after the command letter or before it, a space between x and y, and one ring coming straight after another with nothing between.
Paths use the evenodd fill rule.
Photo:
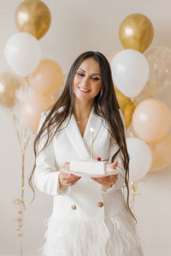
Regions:
<instances>
[{"instance_id":1,"label":"see-through balloon with gold specks, leftmost in the left cluster","mask_svg":"<svg viewBox=\"0 0 171 256\"><path fill-rule=\"evenodd\" d=\"M9 72L0 74L0 104L12 109L18 103L17 91L22 86L22 80Z\"/></svg>"}]
</instances>

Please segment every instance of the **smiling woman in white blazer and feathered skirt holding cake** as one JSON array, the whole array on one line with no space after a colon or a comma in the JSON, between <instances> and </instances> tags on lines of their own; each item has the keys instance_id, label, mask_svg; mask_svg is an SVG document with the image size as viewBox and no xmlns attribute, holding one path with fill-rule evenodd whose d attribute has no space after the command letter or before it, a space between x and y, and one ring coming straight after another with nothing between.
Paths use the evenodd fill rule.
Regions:
<instances>
[{"instance_id":1,"label":"smiling woman in white blazer and feathered skirt holding cake","mask_svg":"<svg viewBox=\"0 0 171 256\"><path fill-rule=\"evenodd\" d=\"M128 205L129 157L122 121L107 59L99 52L81 54L62 96L42 114L34 144L34 183L54 198L42 255L143 255ZM118 175L79 177L66 171L71 160L90 160L90 127L94 159L108 159L109 168L121 170Z\"/></svg>"}]
</instances>

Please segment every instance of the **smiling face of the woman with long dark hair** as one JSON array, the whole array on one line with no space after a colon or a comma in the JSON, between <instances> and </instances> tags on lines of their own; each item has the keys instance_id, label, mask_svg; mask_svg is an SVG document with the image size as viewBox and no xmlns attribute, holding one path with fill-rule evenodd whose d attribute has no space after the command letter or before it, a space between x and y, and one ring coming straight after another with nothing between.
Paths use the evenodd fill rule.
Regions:
<instances>
[{"instance_id":1,"label":"smiling face of the woman with long dark hair","mask_svg":"<svg viewBox=\"0 0 171 256\"><path fill-rule=\"evenodd\" d=\"M85 59L74 75L74 96L81 101L93 101L102 87L100 67L95 59Z\"/></svg>"}]
</instances>

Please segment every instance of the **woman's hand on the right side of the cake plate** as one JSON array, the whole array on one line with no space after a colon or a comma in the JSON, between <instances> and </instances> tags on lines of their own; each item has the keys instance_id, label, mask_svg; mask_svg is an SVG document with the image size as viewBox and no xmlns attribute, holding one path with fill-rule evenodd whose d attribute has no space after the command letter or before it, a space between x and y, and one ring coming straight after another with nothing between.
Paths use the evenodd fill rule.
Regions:
<instances>
[{"instance_id":1,"label":"woman's hand on the right side of the cake plate","mask_svg":"<svg viewBox=\"0 0 171 256\"><path fill-rule=\"evenodd\" d=\"M116 166L118 165L118 162L115 161L112 164L107 164L107 168L109 169L115 169ZM117 174L116 175L111 175L111 176L105 176L102 178L91 178L94 182L97 182L101 184L105 188L111 188L113 185L115 185L115 182L117 181Z\"/></svg>"}]
</instances>

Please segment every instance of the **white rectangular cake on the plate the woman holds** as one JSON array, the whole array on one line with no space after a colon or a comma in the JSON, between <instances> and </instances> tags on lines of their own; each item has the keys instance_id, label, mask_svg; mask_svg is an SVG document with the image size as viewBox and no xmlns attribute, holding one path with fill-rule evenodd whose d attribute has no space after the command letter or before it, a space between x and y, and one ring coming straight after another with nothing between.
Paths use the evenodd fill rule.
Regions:
<instances>
[{"instance_id":1,"label":"white rectangular cake on the plate the woman holds","mask_svg":"<svg viewBox=\"0 0 171 256\"><path fill-rule=\"evenodd\" d=\"M70 170L82 174L105 175L106 163L101 161L77 161L70 162Z\"/></svg>"}]
</instances>

